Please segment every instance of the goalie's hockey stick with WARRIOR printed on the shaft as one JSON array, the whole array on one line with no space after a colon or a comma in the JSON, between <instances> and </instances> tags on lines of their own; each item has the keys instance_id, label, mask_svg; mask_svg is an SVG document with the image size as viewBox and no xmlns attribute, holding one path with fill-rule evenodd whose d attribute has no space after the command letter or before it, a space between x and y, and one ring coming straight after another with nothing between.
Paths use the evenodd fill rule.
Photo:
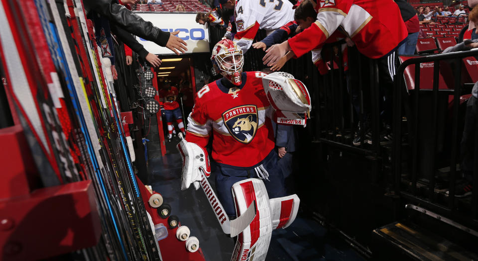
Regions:
<instances>
[{"instance_id":1,"label":"goalie's hockey stick with WARRIOR printed on the shaft","mask_svg":"<svg viewBox=\"0 0 478 261\"><path fill-rule=\"evenodd\" d=\"M177 136L179 139L183 139L182 133L179 133ZM221 225L222 231L225 234L228 234L231 238L239 235L239 233L244 231L256 217L256 201L254 200L242 215L234 220L230 220L226 214L226 211L224 210L224 207L219 201L219 198L216 196L216 193L214 193L211 184L209 184L206 175L203 171L200 173L201 181L199 183L209 201L209 205L211 205L211 208L216 215L217 221L219 221L219 224Z\"/></svg>"}]
</instances>

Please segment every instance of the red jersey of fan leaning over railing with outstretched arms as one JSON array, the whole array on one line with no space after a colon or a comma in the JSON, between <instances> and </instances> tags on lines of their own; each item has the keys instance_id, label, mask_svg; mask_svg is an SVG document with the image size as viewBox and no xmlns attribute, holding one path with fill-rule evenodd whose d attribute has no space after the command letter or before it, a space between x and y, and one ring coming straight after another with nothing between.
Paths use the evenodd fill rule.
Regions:
<instances>
[{"instance_id":1,"label":"red jersey of fan leaning over railing with outstretched arms","mask_svg":"<svg viewBox=\"0 0 478 261\"><path fill-rule=\"evenodd\" d=\"M317 8L317 21L288 40L297 57L325 42L339 26L372 59L390 53L408 36L393 0L319 0Z\"/></svg>"}]
</instances>

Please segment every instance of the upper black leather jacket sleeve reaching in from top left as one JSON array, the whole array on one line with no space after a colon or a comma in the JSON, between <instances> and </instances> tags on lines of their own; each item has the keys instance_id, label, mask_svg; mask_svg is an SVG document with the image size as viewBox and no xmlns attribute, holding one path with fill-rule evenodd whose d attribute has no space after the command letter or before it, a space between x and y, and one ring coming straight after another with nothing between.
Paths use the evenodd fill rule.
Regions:
<instances>
[{"instance_id":1,"label":"upper black leather jacket sleeve reaching in from top left","mask_svg":"<svg viewBox=\"0 0 478 261\"><path fill-rule=\"evenodd\" d=\"M125 31L137 35L159 46L166 46L169 32L161 31L153 23L143 20L136 13L125 6L111 0L83 0L85 11L95 11L105 16L111 24L123 28Z\"/></svg>"}]
</instances>

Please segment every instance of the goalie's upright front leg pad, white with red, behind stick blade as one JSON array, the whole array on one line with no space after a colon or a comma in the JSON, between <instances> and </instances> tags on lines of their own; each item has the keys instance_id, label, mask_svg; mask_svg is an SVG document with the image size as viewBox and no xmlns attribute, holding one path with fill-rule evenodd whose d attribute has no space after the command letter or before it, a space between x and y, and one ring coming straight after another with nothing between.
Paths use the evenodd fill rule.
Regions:
<instances>
[{"instance_id":1,"label":"goalie's upright front leg pad, white with red, behind stick blade","mask_svg":"<svg viewBox=\"0 0 478 261\"><path fill-rule=\"evenodd\" d=\"M238 235L231 261L264 261L272 236L271 209L266 186L261 179L248 178L232 186L232 194L240 216L247 207L256 201L256 217Z\"/></svg>"}]
</instances>

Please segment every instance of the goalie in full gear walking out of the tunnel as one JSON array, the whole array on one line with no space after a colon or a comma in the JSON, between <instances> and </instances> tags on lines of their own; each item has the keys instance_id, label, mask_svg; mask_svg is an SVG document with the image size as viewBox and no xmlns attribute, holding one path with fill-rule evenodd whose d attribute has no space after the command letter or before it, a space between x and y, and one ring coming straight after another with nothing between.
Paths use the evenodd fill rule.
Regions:
<instances>
[{"instance_id":1,"label":"goalie in full gear walking out of the tunnel","mask_svg":"<svg viewBox=\"0 0 478 261\"><path fill-rule=\"evenodd\" d=\"M211 60L223 78L196 94L186 137L177 145L183 159L181 189L201 187L223 231L238 235L232 261L263 261L272 230L288 227L300 203L297 195L286 196L272 119L304 125L309 93L289 74L242 72L242 50L231 40L219 41ZM217 195L207 179L205 146L211 133Z\"/></svg>"}]
</instances>

